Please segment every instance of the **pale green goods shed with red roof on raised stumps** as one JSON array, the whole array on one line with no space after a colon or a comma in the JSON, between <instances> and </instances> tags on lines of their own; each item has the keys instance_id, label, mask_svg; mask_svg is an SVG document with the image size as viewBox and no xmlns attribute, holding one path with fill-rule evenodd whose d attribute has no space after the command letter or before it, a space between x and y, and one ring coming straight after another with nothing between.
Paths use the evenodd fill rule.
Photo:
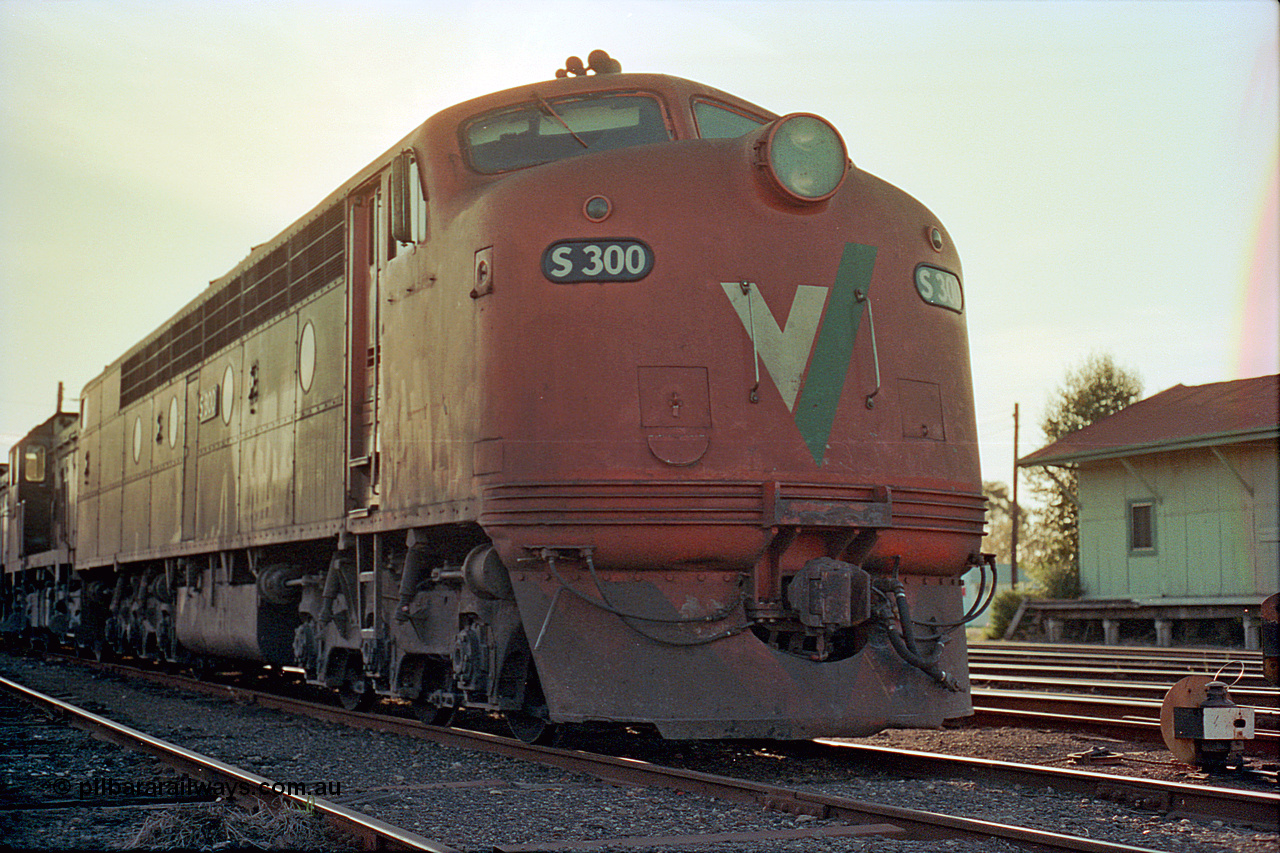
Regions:
<instances>
[{"instance_id":1,"label":"pale green goods shed with red roof on raised stumps","mask_svg":"<svg viewBox=\"0 0 1280 853\"><path fill-rule=\"evenodd\" d=\"M1280 377L1174 386L1024 456L1078 474L1078 601L1030 602L1050 639L1101 626L1106 643L1211 637L1258 648L1280 584ZM1221 635L1221 634L1220 634Z\"/></svg>"}]
</instances>

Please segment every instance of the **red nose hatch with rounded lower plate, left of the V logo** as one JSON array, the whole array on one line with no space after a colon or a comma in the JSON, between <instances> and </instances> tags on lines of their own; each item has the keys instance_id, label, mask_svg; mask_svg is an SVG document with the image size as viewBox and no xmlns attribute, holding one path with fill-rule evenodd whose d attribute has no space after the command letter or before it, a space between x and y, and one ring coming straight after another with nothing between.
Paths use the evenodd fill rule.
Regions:
<instances>
[{"instance_id":1,"label":"red nose hatch with rounded lower plate, left of the V logo","mask_svg":"<svg viewBox=\"0 0 1280 853\"><path fill-rule=\"evenodd\" d=\"M668 465L692 465L710 444L707 368L640 366L640 425L649 450Z\"/></svg>"}]
</instances>

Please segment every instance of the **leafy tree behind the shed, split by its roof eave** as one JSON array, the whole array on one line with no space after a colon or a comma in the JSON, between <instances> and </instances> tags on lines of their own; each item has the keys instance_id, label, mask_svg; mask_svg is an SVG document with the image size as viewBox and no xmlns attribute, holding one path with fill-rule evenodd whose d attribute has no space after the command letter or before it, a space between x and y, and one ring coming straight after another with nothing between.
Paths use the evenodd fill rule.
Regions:
<instances>
[{"instance_id":1,"label":"leafy tree behind the shed, split by its roof eave","mask_svg":"<svg viewBox=\"0 0 1280 853\"><path fill-rule=\"evenodd\" d=\"M1041 429L1048 443L1114 415L1142 394L1142 379L1133 370L1116 365L1108 353L1093 353L1066 373L1066 379L1050 397ZM1080 507L1076 503L1075 466L1029 469L1028 482L1041 498L1037 512L1041 548L1028 569L1041 584L1056 594L1080 593Z\"/></svg>"}]
</instances>

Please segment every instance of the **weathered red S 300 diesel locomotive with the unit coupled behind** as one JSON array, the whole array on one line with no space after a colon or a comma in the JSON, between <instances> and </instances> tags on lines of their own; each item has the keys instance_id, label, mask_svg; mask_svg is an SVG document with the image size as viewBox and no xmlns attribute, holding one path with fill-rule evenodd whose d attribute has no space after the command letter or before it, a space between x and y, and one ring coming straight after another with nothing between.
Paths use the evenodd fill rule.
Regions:
<instances>
[{"instance_id":1,"label":"weathered red S 300 diesel locomotive with the unit coupled behind","mask_svg":"<svg viewBox=\"0 0 1280 853\"><path fill-rule=\"evenodd\" d=\"M4 628L527 740L938 726L988 571L964 310L946 229L827 120L571 58L14 446Z\"/></svg>"}]
</instances>

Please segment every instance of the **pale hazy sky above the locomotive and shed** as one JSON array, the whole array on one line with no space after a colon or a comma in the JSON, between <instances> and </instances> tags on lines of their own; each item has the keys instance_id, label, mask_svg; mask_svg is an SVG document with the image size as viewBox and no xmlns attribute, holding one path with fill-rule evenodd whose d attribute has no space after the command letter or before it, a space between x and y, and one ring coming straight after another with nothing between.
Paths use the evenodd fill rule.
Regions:
<instances>
[{"instance_id":1,"label":"pale hazy sky above the locomotive and shed","mask_svg":"<svg viewBox=\"0 0 1280 853\"><path fill-rule=\"evenodd\" d=\"M596 47L946 224L984 479L1070 368L1280 371L1274 0L0 0L0 451L431 114Z\"/></svg>"}]
</instances>

